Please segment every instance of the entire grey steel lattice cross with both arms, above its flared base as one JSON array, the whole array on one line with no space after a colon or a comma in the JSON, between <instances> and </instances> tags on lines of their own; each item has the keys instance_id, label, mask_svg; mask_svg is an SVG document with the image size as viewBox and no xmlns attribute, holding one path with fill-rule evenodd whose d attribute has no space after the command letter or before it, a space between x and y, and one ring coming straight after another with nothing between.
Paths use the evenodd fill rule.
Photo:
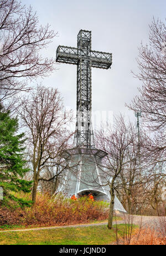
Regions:
<instances>
[{"instance_id":1,"label":"entire grey steel lattice cross with both arms, above its flared base","mask_svg":"<svg viewBox=\"0 0 166 256\"><path fill-rule=\"evenodd\" d=\"M91 67L110 68L112 54L92 51L91 31L81 29L77 35L77 48L58 46L56 62L77 65L77 122L74 146L92 148L95 145L91 125Z\"/></svg>"}]
</instances>

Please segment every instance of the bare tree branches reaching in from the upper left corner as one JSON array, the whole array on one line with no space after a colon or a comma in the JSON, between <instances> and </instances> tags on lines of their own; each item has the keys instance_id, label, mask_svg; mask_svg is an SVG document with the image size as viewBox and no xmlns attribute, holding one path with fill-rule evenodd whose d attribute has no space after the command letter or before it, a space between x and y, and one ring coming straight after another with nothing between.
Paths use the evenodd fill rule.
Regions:
<instances>
[{"instance_id":1,"label":"bare tree branches reaching in from the upper left corner","mask_svg":"<svg viewBox=\"0 0 166 256\"><path fill-rule=\"evenodd\" d=\"M28 81L54 70L54 58L44 58L40 50L55 37L49 25L39 25L32 7L17 0L0 2L0 92L1 101L20 91L29 91Z\"/></svg>"}]
</instances>

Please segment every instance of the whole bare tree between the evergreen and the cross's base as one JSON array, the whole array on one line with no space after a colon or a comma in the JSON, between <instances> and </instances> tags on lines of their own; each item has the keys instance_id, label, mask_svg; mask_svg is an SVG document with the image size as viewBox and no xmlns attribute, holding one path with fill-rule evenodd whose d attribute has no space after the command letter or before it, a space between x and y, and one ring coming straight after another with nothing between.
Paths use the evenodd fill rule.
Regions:
<instances>
[{"instance_id":1,"label":"whole bare tree between the evergreen and the cross's base","mask_svg":"<svg viewBox=\"0 0 166 256\"><path fill-rule=\"evenodd\" d=\"M33 170L32 200L35 204L39 181L50 181L60 175L66 166L61 157L71 137L71 113L66 113L60 93L38 86L35 93L22 101L19 115L27 129L29 161ZM51 177L43 175L45 168L57 167Z\"/></svg>"}]
</instances>

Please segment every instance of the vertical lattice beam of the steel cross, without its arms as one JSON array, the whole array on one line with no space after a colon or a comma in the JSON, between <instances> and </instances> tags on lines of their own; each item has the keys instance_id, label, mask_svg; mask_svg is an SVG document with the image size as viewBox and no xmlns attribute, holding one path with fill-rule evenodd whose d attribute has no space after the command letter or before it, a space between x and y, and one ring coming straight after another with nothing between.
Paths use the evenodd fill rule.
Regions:
<instances>
[{"instance_id":1,"label":"vertical lattice beam of the steel cross, without its arms","mask_svg":"<svg viewBox=\"0 0 166 256\"><path fill-rule=\"evenodd\" d=\"M93 132L91 126L91 32L80 31L77 35L77 49L80 60L77 64L77 123L74 146L91 147Z\"/></svg>"}]
</instances>

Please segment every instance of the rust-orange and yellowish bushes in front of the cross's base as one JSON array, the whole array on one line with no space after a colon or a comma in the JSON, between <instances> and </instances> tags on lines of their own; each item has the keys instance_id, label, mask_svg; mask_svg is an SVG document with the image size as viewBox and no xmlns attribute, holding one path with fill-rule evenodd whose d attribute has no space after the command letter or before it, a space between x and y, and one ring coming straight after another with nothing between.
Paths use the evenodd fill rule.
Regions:
<instances>
[{"instance_id":1,"label":"rust-orange and yellowish bushes in front of the cross's base","mask_svg":"<svg viewBox=\"0 0 166 256\"><path fill-rule=\"evenodd\" d=\"M73 201L61 194L50 198L48 194L43 195L38 193L33 209L5 209L7 214L4 215L4 218L0 219L0 225L22 224L49 226L103 220L108 218L108 211L105 210L106 205L107 203L101 203L100 201L89 201L86 197ZM14 219L12 219L13 216L15 216Z\"/></svg>"}]
</instances>

